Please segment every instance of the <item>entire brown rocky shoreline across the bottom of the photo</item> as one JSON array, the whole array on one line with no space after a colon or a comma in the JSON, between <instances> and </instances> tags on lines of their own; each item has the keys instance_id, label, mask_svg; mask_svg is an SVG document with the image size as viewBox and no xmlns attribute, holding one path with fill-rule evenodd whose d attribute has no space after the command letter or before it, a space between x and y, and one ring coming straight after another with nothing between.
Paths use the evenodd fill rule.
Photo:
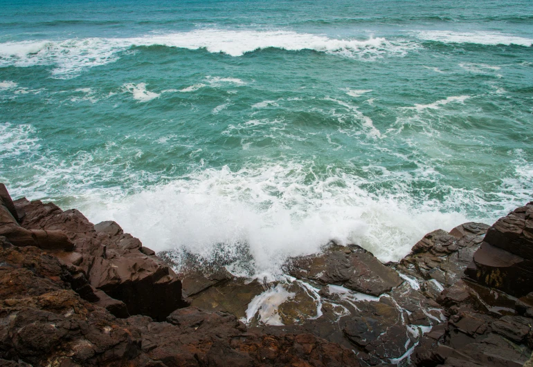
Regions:
<instances>
[{"instance_id":1,"label":"entire brown rocky shoreline across the bottom of the photo","mask_svg":"<svg viewBox=\"0 0 533 367\"><path fill-rule=\"evenodd\" d=\"M399 263L357 245L273 283L170 258L0 184L0 366L523 366L533 202L436 230Z\"/></svg>"}]
</instances>

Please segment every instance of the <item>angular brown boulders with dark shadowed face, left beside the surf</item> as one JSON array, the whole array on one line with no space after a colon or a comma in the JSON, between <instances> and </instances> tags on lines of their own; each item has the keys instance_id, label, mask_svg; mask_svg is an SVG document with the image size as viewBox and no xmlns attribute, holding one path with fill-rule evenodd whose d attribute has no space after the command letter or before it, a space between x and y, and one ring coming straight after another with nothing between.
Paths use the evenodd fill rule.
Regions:
<instances>
[{"instance_id":1,"label":"angular brown boulders with dark shadowed face, left beside the surf","mask_svg":"<svg viewBox=\"0 0 533 367\"><path fill-rule=\"evenodd\" d=\"M96 292L98 302L117 316L145 314L164 320L170 312L187 305L181 296L181 281L172 269L137 238L123 233L118 224L94 226L75 209L62 211L38 200L19 199L14 206L24 229L61 231L68 236L75 248L63 249L57 256L84 276L92 288L111 297ZM125 303L127 310L112 299Z\"/></svg>"}]
</instances>

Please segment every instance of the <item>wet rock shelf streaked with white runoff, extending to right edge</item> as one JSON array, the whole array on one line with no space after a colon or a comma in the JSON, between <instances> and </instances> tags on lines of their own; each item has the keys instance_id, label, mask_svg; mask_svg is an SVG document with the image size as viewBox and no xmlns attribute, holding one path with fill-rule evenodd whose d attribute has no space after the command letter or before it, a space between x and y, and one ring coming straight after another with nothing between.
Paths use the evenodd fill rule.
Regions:
<instances>
[{"instance_id":1,"label":"wet rock shelf streaked with white runoff, extending to right edge","mask_svg":"<svg viewBox=\"0 0 533 367\"><path fill-rule=\"evenodd\" d=\"M492 227L437 229L399 263L382 264L356 245L331 244L322 254L290 259L284 281L250 283L220 270L195 271L181 274L183 292L191 305L230 312L264 332L311 332L334 341L363 366L522 366L533 348L533 282L506 288L505 279L529 274L518 270L528 269L532 210L530 203ZM509 221L511 234L501 225ZM509 256L524 259L506 272L492 270L499 277L487 277L488 270L472 274L495 236L487 231L512 244ZM491 261L500 261L498 254Z\"/></svg>"}]
</instances>

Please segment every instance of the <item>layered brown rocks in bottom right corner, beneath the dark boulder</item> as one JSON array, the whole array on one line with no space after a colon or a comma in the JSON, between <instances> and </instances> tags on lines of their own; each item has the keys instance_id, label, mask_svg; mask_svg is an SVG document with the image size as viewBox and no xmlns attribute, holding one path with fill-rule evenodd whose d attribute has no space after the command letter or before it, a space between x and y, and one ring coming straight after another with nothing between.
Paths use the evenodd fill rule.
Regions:
<instances>
[{"instance_id":1,"label":"layered brown rocks in bottom right corner, beneath the dark boulder","mask_svg":"<svg viewBox=\"0 0 533 367\"><path fill-rule=\"evenodd\" d=\"M415 366L522 366L531 355L532 319L515 299L471 281L458 281L437 299L450 314L411 357Z\"/></svg>"}]
</instances>

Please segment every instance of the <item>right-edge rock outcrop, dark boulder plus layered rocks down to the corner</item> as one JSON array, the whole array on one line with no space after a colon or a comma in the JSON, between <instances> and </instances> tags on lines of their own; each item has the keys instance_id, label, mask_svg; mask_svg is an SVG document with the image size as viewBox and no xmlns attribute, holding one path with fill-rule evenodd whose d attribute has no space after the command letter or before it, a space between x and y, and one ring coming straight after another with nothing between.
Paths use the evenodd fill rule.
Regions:
<instances>
[{"instance_id":1,"label":"right-edge rock outcrop, dark boulder plus layered rocks down to the corner","mask_svg":"<svg viewBox=\"0 0 533 367\"><path fill-rule=\"evenodd\" d=\"M530 358L533 285L527 256L533 243L531 214L533 203L500 218L487 230L464 272L467 277L437 297L449 319L420 341L411 356L415 366L519 367Z\"/></svg>"}]
</instances>

